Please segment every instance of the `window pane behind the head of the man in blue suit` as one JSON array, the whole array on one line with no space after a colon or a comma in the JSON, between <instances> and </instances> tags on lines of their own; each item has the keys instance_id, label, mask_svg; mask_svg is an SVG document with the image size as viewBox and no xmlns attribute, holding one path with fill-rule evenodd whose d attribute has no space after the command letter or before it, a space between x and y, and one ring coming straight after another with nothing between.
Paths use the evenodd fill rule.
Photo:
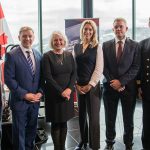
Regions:
<instances>
[{"instance_id":1,"label":"window pane behind the head of the man in blue suit","mask_svg":"<svg viewBox=\"0 0 150 150\"><path fill-rule=\"evenodd\" d=\"M37 0L4 0L1 1L4 16L15 44L18 44L18 32L22 26L30 26L38 42L38 1Z\"/></svg>"}]
</instances>

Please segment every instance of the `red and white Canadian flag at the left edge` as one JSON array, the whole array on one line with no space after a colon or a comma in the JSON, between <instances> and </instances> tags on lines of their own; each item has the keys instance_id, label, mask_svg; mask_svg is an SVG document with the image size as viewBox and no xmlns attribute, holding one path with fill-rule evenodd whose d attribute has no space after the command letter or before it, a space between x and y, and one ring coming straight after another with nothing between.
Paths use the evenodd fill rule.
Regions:
<instances>
[{"instance_id":1,"label":"red and white Canadian flag at the left edge","mask_svg":"<svg viewBox=\"0 0 150 150\"><path fill-rule=\"evenodd\" d=\"M6 46L13 43L12 36L4 17L2 5L0 3L0 81L2 85L4 85L4 60Z\"/></svg>"}]
</instances>

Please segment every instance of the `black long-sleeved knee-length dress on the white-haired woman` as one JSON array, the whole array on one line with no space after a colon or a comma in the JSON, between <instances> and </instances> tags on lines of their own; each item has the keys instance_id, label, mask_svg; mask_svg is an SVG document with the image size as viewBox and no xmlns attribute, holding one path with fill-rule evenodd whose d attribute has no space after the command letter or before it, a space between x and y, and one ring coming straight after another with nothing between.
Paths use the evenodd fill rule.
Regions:
<instances>
[{"instance_id":1,"label":"black long-sleeved knee-length dress on the white-haired woman","mask_svg":"<svg viewBox=\"0 0 150 150\"><path fill-rule=\"evenodd\" d=\"M43 56L43 77L45 81L45 112L47 122L66 122L74 116L73 90L75 84L75 63L70 52L55 54L49 51ZM61 93L72 90L70 100Z\"/></svg>"}]
</instances>

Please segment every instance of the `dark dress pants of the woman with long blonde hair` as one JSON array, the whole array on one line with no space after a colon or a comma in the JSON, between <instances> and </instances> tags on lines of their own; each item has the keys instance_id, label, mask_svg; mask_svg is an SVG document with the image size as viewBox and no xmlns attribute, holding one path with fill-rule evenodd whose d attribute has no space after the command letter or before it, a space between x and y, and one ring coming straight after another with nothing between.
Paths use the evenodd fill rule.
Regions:
<instances>
[{"instance_id":1,"label":"dark dress pants of the woman with long blonde hair","mask_svg":"<svg viewBox=\"0 0 150 150\"><path fill-rule=\"evenodd\" d=\"M100 148L100 97L100 84L92 87L87 94L78 96L81 141L89 141L92 149Z\"/></svg>"}]
</instances>

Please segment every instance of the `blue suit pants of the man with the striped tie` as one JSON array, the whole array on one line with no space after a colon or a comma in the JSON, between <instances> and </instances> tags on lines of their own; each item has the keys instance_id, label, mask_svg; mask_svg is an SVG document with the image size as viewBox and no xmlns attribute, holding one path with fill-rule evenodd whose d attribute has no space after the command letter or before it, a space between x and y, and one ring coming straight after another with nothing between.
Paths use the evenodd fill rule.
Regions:
<instances>
[{"instance_id":1,"label":"blue suit pants of the man with the striped tie","mask_svg":"<svg viewBox=\"0 0 150 150\"><path fill-rule=\"evenodd\" d=\"M18 102L19 103L19 102ZM37 130L39 104L22 103L12 109L13 150L33 150Z\"/></svg>"}]
</instances>

